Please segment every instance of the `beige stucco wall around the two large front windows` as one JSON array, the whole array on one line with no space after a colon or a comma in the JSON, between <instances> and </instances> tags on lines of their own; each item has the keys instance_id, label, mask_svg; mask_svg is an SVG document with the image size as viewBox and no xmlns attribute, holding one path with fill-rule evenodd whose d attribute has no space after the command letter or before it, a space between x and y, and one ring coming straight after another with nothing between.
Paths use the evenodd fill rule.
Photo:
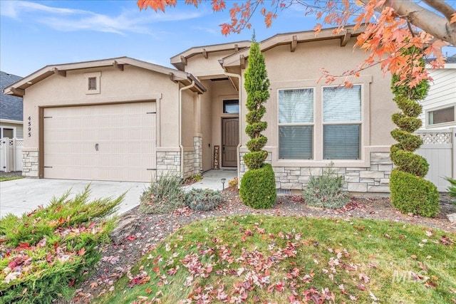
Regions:
<instances>
[{"instance_id":1,"label":"beige stucco wall around the two large front windows","mask_svg":"<svg viewBox=\"0 0 456 304\"><path fill-rule=\"evenodd\" d=\"M271 83L269 90L271 97L266 103L266 115L264 116L264 120L269 125L264 135L269 138L266 150L272 152L273 164L274 159L278 159L277 95L278 90L284 88L314 88L314 159L306 162L306 165L318 166L322 164L322 90L325 86L343 83L343 79L332 84L326 84L324 79L319 81L318 79L321 78L321 68L330 70L334 75L341 75L346 70L356 68L361 63L364 55L362 51L353 51L354 41L355 39L352 38L345 47L340 46L338 39L333 39L298 43L294 52L290 51L289 45L276 46L264 52L266 69ZM362 159L356 162L367 166L372 151L371 147L382 146L383 150L388 150L388 146L393 143L390 131L393 130L394 125L390 116L395 111L396 106L390 93L390 77L383 77L378 66L363 70L360 78L353 78L351 81L362 86ZM242 89L244 90L243 85ZM247 96L245 90L243 95ZM244 97L244 103L245 100ZM244 111L246 110L244 107ZM245 127L244 120L242 127ZM243 132L242 144L245 145L248 140L249 137ZM318 161L321 162L318 164ZM289 165L299 162L290 162ZM341 163L341 161L336 161L336 164L337 162ZM340 165L343 166L343 164Z\"/></svg>"}]
</instances>

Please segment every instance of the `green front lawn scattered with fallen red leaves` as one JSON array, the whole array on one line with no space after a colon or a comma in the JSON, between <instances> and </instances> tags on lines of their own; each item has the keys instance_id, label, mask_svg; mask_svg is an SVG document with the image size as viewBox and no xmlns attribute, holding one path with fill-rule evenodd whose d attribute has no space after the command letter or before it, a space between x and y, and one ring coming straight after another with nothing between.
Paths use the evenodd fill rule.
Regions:
<instances>
[{"instance_id":1,"label":"green front lawn scattered with fallen red leaves","mask_svg":"<svg viewBox=\"0 0 456 304\"><path fill-rule=\"evenodd\" d=\"M455 241L388 221L207 219L167 237L95 303L452 303Z\"/></svg>"}]
</instances>

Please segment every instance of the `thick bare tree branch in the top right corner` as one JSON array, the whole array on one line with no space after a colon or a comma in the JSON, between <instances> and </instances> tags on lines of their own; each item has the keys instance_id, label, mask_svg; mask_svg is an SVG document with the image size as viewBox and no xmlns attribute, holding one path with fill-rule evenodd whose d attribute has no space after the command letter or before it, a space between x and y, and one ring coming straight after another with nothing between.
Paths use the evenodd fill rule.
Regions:
<instances>
[{"instance_id":1,"label":"thick bare tree branch in the top right corner","mask_svg":"<svg viewBox=\"0 0 456 304\"><path fill-rule=\"evenodd\" d=\"M363 4L368 4L370 1L361 0ZM407 19L414 26L421 28L426 33L430 33L435 38L447 41L453 46L456 46L456 23L450 24L450 21L445 17L437 15L423 6L419 6L411 0L386 0L385 4L375 8L375 11L381 12L385 7L392 7L401 16L400 18Z\"/></svg>"}]
</instances>

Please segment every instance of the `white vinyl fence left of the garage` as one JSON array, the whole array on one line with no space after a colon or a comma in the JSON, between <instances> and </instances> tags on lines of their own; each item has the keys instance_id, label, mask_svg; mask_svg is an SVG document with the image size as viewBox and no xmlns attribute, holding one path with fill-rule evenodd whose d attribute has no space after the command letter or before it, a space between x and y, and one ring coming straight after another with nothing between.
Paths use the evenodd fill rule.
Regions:
<instances>
[{"instance_id":1,"label":"white vinyl fence left of the garage","mask_svg":"<svg viewBox=\"0 0 456 304\"><path fill-rule=\"evenodd\" d=\"M4 137L0 140L0 171L22 171L24 140Z\"/></svg>"}]
</instances>

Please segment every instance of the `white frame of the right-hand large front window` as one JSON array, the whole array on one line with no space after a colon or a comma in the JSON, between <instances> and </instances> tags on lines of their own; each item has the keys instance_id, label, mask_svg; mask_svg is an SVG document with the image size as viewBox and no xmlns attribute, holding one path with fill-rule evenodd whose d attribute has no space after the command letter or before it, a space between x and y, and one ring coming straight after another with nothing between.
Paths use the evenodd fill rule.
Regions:
<instances>
[{"instance_id":1,"label":"white frame of the right-hand large front window","mask_svg":"<svg viewBox=\"0 0 456 304\"><path fill-rule=\"evenodd\" d=\"M363 142L363 94L364 94L364 86L363 83L353 83L353 87L359 86L360 87L360 120L347 120L347 121L336 121L336 122L325 122L324 121L324 89L325 88L336 88L340 87L343 88L343 85L322 85L321 86L321 159L324 161L327 160L336 160L336 161L359 161L362 159L362 142ZM358 135L358 158L350 159L350 158L324 158L325 156L325 141L324 141L324 127L325 125L359 125L359 135Z\"/></svg>"}]
</instances>

